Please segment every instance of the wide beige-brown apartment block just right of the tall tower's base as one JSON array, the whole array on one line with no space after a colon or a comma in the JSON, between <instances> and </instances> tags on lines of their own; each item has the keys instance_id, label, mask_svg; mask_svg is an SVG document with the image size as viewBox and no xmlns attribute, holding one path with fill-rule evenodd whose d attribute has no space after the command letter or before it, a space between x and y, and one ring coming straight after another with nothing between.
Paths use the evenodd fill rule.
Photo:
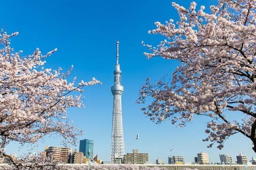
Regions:
<instances>
[{"instance_id":1,"label":"wide beige-brown apartment block just right of the tall tower's base","mask_svg":"<svg viewBox=\"0 0 256 170\"><path fill-rule=\"evenodd\" d=\"M133 149L132 153L124 155L124 163L145 164L148 162L148 154L139 153L138 149Z\"/></svg>"}]
</instances>

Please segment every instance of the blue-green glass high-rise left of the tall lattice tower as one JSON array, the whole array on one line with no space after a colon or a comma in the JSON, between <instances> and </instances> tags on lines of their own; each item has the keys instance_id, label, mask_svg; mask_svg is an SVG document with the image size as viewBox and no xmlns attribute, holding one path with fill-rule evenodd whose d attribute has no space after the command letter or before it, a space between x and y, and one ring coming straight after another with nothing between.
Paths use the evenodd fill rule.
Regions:
<instances>
[{"instance_id":1,"label":"blue-green glass high-rise left of the tall lattice tower","mask_svg":"<svg viewBox=\"0 0 256 170\"><path fill-rule=\"evenodd\" d=\"M88 151L90 151L90 156ZM79 152L82 152L86 158L93 159L93 141L89 139L80 140Z\"/></svg>"}]
</instances>

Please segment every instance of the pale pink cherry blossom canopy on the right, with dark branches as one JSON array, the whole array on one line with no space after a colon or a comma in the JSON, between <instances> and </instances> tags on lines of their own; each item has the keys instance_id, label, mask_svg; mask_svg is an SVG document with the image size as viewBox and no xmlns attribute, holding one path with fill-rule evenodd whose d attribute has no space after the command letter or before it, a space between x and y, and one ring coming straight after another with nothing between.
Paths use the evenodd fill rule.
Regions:
<instances>
[{"instance_id":1,"label":"pale pink cherry blossom canopy on the right, with dark branches","mask_svg":"<svg viewBox=\"0 0 256 170\"><path fill-rule=\"evenodd\" d=\"M149 33L165 37L157 47L147 45L147 58L162 56L181 63L170 82L163 79L146 84L138 103L153 102L144 110L151 120L170 119L183 127L193 115L211 117L207 124L208 147L241 133L251 139L256 152L256 0L218 0L204 12L172 3L180 20L155 22ZM230 120L227 112L242 113L242 120Z\"/></svg>"}]
</instances>

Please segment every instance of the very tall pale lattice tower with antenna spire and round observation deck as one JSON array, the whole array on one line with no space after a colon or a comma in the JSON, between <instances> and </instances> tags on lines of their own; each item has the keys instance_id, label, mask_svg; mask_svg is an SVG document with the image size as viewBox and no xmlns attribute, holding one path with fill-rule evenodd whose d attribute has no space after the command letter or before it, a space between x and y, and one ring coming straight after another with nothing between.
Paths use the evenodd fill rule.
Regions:
<instances>
[{"instance_id":1,"label":"very tall pale lattice tower with antenna spire and round observation deck","mask_svg":"<svg viewBox=\"0 0 256 170\"><path fill-rule=\"evenodd\" d=\"M118 64L118 41L116 42L116 47L116 69L114 70L114 86L111 87L111 92L114 96L112 117L111 161L114 161L114 158L123 158L124 156L124 134L121 105L121 96L123 94L124 87L121 86L122 72Z\"/></svg>"}]
</instances>

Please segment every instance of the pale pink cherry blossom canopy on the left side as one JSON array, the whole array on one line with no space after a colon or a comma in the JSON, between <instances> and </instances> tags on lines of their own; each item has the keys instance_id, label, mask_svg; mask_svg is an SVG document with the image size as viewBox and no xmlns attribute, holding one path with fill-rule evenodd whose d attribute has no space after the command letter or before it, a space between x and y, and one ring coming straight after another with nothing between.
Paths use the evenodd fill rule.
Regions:
<instances>
[{"instance_id":1,"label":"pale pink cherry blossom canopy on the left side","mask_svg":"<svg viewBox=\"0 0 256 170\"><path fill-rule=\"evenodd\" d=\"M74 144L81 131L66 118L68 107L83 106L81 96L84 86L101 83L95 78L90 82L75 79L68 83L67 75L59 70L45 69L45 59L57 49L42 55L37 48L33 54L22 56L14 52L10 38L0 32L0 157L8 157L5 147L16 141L20 144L35 143L47 134L58 133Z\"/></svg>"}]
</instances>

